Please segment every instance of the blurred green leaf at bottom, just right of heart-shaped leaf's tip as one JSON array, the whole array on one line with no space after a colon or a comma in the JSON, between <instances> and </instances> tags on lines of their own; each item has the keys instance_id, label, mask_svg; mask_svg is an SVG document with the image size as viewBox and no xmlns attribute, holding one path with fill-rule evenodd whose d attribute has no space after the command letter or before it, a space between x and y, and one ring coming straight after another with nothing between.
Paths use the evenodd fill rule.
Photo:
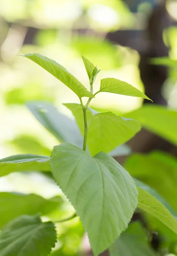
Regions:
<instances>
[{"instance_id":1,"label":"blurred green leaf at bottom, just right of heart-shaped leaf's tip","mask_svg":"<svg viewBox=\"0 0 177 256\"><path fill-rule=\"evenodd\" d=\"M155 256L155 251L147 241L146 231L136 221L128 225L119 239L109 248L110 256Z\"/></svg>"}]
</instances>

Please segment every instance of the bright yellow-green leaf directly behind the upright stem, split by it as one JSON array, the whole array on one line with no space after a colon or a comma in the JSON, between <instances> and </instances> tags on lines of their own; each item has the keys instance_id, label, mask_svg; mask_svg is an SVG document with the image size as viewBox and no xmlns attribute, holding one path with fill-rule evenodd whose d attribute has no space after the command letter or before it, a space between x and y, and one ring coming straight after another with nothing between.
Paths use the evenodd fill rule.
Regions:
<instances>
[{"instance_id":1,"label":"bright yellow-green leaf directly behind the upright stem, split by it","mask_svg":"<svg viewBox=\"0 0 177 256\"><path fill-rule=\"evenodd\" d=\"M82 134L84 134L83 111L81 105L66 103L76 118ZM87 145L91 155L100 151L109 153L118 145L130 140L140 131L140 124L136 120L117 116L112 112L97 113L87 109L88 137Z\"/></svg>"}]
</instances>

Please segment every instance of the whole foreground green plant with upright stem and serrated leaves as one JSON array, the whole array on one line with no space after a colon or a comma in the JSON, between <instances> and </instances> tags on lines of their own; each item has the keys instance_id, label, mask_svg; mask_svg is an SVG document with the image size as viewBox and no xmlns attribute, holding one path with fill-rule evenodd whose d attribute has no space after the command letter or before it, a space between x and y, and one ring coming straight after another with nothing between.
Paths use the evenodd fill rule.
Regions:
<instances>
[{"instance_id":1,"label":"whole foreground green plant with upright stem and serrated leaves","mask_svg":"<svg viewBox=\"0 0 177 256\"><path fill-rule=\"evenodd\" d=\"M65 104L73 113L77 125L59 114L51 105L29 103L34 116L61 144L54 146L51 157L24 154L0 160L0 176L12 172L51 171L76 210L70 218L56 222L68 221L78 215L88 233L95 256L107 248L110 248L112 256L117 255L114 242L127 227L126 233L120 236L123 243L128 243L127 237L134 228L144 236L141 227L132 224L128 226L137 208L155 216L177 234L177 221L169 211L170 206L149 186L133 179L111 157L117 146L126 143L140 131L140 123L110 111L98 113L89 108L91 99L100 92L149 98L130 84L114 78L102 79L100 90L94 93L94 80L100 70L84 57L90 91L57 62L35 53L24 56L39 64L77 94L80 104ZM88 97L85 105L83 97ZM63 120L62 123L59 120ZM24 195L0 193L0 196L4 200L3 210L0 212L3 217L0 218L0 255L49 255L57 241L57 234L54 223L43 222L40 215L56 209L61 198L46 200L37 195L27 195L24 201ZM10 204L11 200L14 205L19 202L17 209ZM12 214L8 215L9 211ZM140 236L138 239L141 238ZM143 243L143 248L146 245L146 242ZM129 246L132 247L132 243ZM148 253L153 255L149 250Z\"/></svg>"}]
</instances>

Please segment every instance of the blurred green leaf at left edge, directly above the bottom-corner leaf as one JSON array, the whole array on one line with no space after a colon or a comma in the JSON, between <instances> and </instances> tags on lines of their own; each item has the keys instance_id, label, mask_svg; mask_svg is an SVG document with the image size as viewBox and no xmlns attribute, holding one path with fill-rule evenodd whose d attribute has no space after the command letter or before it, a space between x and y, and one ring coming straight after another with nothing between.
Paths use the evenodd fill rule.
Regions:
<instances>
[{"instance_id":1,"label":"blurred green leaf at left edge, directly above the bottom-corner leaf","mask_svg":"<svg viewBox=\"0 0 177 256\"><path fill-rule=\"evenodd\" d=\"M57 209L61 198L45 199L35 194L0 192L0 228L19 215L41 215Z\"/></svg>"}]
</instances>

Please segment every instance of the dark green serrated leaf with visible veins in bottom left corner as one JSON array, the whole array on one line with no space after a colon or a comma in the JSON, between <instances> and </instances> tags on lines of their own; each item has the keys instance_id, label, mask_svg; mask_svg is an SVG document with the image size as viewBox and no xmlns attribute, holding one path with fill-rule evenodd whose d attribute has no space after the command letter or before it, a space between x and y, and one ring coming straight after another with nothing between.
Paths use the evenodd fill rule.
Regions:
<instances>
[{"instance_id":1,"label":"dark green serrated leaf with visible veins in bottom left corner","mask_svg":"<svg viewBox=\"0 0 177 256\"><path fill-rule=\"evenodd\" d=\"M38 215L22 215L0 233L1 256L48 256L55 246L54 224L41 222Z\"/></svg>"}]
</instances>

